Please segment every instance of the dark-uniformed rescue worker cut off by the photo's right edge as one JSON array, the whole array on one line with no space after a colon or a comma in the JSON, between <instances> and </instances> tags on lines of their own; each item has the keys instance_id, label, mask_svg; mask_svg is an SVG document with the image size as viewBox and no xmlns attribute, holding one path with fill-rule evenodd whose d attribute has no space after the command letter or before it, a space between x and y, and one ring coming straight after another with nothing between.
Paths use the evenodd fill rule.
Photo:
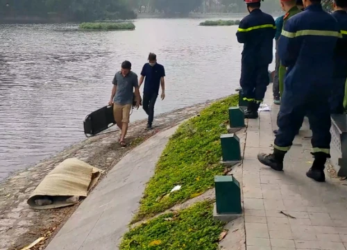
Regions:
<instances>
[{"instance_id":1,"label":"dark-uniformed rescue worker cut off by the photo's right edge","mask_svg":"<svg viewBox=\"0 0 347 250\"><path fill-rule=\"evenodd\" d=\"M341 29L342 38L337 40L334 55L334 83L330 97L330 112L332 114L344 113L344 94L347 78L347 1L335 0L332 16L337 19Z\"/></svg>"}]
</instances>

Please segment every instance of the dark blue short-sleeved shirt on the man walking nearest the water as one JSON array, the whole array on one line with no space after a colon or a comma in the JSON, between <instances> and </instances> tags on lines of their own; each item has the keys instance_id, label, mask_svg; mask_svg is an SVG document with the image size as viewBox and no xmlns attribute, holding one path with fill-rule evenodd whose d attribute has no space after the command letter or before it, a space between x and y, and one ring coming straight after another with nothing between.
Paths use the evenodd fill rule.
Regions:
<instances>
[{"instance_id":1,"label":"dark blue short-sleeved shirt on the man walking nearest the water","mask_svg":"<svg viewBox=\"0 0 347 250\"><path fill-rule=\"evenodd\" d=\"M160 78L165 76L164 66L155 63L153 67L146 63L142 68L141 75L144 76L144 94L158 94Z\"/></svg>"}]
</instances>

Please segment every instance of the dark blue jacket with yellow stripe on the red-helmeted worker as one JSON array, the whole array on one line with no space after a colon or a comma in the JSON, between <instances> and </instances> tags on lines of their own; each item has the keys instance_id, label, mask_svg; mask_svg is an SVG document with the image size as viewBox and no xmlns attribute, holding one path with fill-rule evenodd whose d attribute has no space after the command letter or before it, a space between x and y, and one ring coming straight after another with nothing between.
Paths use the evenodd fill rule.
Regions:
<instances>
[{"instance_id":1,"label":"dark blue jacket with yellow stripe on the red-helmeted worker","mask_svg":"<svg viewBox=\"0 0 347 250\"><path fill-rule=\"evenodd\" d=\"M276 24L273 17L260 9L244 17L237 30L237 41L244 44L242 63L269 65L273 58Z\"/></svg>"}]
</instances>

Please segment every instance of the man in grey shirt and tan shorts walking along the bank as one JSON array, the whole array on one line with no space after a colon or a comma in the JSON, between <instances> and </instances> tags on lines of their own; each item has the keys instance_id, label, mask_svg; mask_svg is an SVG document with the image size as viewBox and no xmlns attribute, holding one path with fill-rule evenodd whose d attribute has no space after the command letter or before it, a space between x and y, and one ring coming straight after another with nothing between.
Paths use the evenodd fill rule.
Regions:
<instances>
[{"instance_id":1,"label":"man in grey shirt and tan shorts walking along the bank","mask_svg":"<svg viewBox=\"0 0 347 250\"><path fill-rule=\"evenodd\" d=\"M131 63L129 61L124 61L121 64L121 71L115 74L112 84L113 88L109 104L113 105L115 122L121 129L121 138L119 143L121 144L121 147L126 147L124 138L128 131L128 123L130 111L133 106L134 94L137 109L139 108L139 103L141 101L137 74L131 71Z\"/></svg>"}]
</instances>

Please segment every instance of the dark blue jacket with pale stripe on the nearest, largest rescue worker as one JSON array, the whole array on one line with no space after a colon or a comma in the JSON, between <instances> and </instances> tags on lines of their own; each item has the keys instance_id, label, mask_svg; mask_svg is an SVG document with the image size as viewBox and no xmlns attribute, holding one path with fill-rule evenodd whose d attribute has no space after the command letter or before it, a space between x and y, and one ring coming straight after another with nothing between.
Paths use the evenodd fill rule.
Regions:
<instances>
[{"instance_id":1,"label":"dark blue jacket with pale stripe on the nearest, largest rescue worker","mask_svg":"<svg viewBox=\"0 0 347 250\"><path fill-rule=\"evenodd\" d=\"M329 93L333 55L340 37L339 24L320 4L308 6L291 17L278 44L280 61L288 67L284 93L289 91L293 98Z\"/></svg>"}]
</instances>

